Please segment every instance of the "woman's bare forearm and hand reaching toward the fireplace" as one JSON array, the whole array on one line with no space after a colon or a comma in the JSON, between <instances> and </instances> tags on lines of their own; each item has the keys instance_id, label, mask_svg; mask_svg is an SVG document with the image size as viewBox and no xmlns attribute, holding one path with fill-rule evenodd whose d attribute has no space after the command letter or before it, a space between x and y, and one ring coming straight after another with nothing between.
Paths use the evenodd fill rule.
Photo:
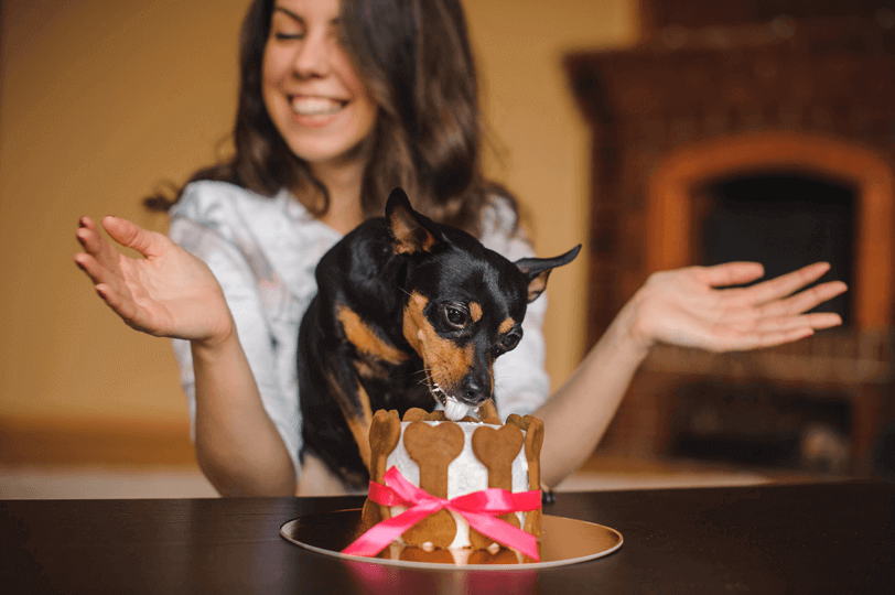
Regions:
<instances>
[{"instance_id":1,"label":"woman's bare forearm and hand reaching toward the fireplace","mask_svg":"<svg viewBox=\"0 0 895 595\"><path fill-rule=\"evenodd\" d=\"M842 323L837 314L802 314L845 291L840 281L795 293L829 270L811 264L745 289L761 264L732 262L654 274L622 309L569 380L535 415L544 423L543 482L554 486L591 455L615 415L634 372L659 343L711 351L797 340Z\"/></svg>"}]
</instances>

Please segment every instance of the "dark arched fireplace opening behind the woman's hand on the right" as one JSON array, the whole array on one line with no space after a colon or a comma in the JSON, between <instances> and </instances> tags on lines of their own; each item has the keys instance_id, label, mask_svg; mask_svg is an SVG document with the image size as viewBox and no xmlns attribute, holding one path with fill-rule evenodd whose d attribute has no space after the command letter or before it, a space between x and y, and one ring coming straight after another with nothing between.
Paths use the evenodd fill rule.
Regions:
<instances>
[{"instance_id":1,"label":"dark arched fireplace opening behind the woman's hand on the right","mask_svg":"<svg viewBox=\"0 0 895 595\"><path fill-rule=\"evenodd\" d=\"M702 264L756 261L765 266L764 279L773 279L827 261L830 271L818 283L838 279L852 291L813 312L834 312L851 324L854 186L798 172L756 172L716 180L695 194Z\"/></svg>"}]
</instances>

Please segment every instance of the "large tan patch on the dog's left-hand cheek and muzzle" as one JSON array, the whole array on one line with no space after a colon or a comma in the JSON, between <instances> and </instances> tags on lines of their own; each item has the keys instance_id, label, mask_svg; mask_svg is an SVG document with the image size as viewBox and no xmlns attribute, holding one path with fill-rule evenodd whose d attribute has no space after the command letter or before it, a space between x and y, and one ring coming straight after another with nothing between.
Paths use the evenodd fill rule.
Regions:
<instances>
[{"instance_id":1,"label":"large tan patch on the dog's left-hand cheek and muzzle","mask_svg":"<svg viewBox=\"0 0 895 595\"><path fill-rule=\"evenodd\" d=\"M424 296L417 292L410 295L403 315L403 335L407 342L422 357L429 378L448 393L460 390L463 378L473 366L474 347L457 347L452 340L442 338L423 313Z\"/></svg>"}]
</instances>

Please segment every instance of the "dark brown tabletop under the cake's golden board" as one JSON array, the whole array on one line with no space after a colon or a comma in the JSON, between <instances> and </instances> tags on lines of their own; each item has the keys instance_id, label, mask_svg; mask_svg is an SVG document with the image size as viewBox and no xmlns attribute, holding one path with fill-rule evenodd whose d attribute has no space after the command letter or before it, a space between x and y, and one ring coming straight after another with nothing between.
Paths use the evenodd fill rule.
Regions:
<instances>
[{"instance_id":1,"label":"dark brown tabletop under the cake's golden board","mask_svg":"<svg viewBox=\"0 0 895 595\"><path fill-rule=\"evenodd\" d=\"M396 569L289 543L280 526L358 498L0 501L3 593L891 593L895 485L563 493L617 529L606 558L520 571Z\"/></svg>"}]
</instances>

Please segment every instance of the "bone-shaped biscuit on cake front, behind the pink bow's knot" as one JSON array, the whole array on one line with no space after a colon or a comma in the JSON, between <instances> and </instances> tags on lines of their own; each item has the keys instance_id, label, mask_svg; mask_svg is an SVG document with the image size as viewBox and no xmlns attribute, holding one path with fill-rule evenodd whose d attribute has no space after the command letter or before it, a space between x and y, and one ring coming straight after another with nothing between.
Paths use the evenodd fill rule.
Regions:
<instances>
[{"instance_id":1,"label":"bone-shaped biscuit on cake front, behind the pink bow's knot","mask_svg":"<svg viewBox=\"0 0 895 595\"><path fill-rule=\"evenodd\" d=\"M411 423L405 430L405 448L420 466L420 488L435 498L448 497L448 465L460 456L465 444L463 430L455 423L429 425ZM435 548L451 545L456 536L456 522L448 510L439 510L405 531L409 545L431 542Z\"/></svg>"}]
</instances>

